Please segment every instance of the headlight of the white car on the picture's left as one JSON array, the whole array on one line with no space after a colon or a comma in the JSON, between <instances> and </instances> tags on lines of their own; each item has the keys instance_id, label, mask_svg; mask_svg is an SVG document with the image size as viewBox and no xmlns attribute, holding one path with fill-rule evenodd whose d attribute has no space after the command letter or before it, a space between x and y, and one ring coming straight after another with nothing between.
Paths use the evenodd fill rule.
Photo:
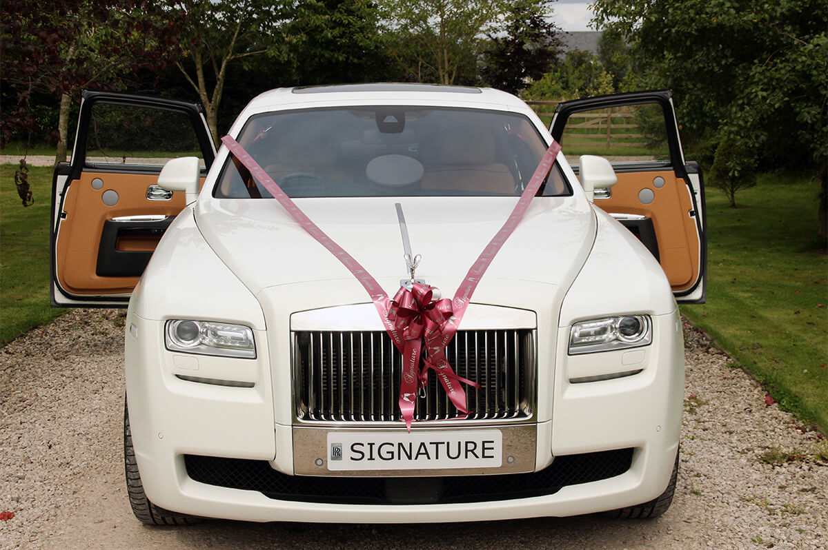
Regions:
<instances>
[{"instance_id":1,"label":"headlight of the white car on the picture's left","mask_svg":"<svg viewBox=\"0 0 828 550\"><path fill-rule=\"evenodd\" d=\"M256 358L253 330L233 323L170 319L164 328L164 344L171 352Z\"/></svg>"}]
</instances>

